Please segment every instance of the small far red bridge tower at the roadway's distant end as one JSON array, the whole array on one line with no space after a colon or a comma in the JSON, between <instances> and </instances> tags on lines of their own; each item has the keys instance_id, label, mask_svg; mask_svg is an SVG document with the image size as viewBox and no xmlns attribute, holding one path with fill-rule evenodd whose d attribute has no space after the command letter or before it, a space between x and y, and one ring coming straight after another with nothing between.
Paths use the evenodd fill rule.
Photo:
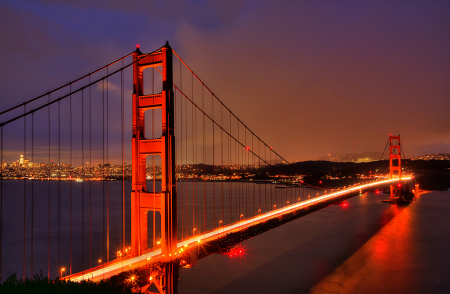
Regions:
<instances>
[{"instance_id":1,"label":"small far red bridge tower at the roadway's distant end","mask_svg":"<svg viewBox=\"0 0 450 294\"><path fill-rule=\"evenodd\" d=\"M389 170L391 178L398 178L396 184L391 185L390 201L402 202L402 163L401 163L401 142L400 135L389 135Z\"/></svg>"}]
</instances>

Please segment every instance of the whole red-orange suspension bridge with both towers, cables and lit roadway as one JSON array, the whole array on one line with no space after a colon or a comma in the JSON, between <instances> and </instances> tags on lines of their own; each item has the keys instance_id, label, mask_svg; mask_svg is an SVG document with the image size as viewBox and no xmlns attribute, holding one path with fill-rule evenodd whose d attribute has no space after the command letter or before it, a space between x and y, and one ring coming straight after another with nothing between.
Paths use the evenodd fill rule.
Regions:
<instances>
[{"instance_id":1,"label":"whole red-orange suspension bridge with both towers, cables and lit roadway","mask_svg":"<svg viewBox=\"0 0 450 294\"><path fill-rule=\"evenodd\" d=\"M389 185L402 203L412 182L400 136L390 135L388 177L306 185L168 43L145 54L138 46L0 115L0 274L11 255L24 279L46 263L48 277L127 272L136 291L176 293L179 267L364 191ZM13 179L22 181L11 190ZM7 213L21 230L8 230Z\"/></svg>"}]
</instances>

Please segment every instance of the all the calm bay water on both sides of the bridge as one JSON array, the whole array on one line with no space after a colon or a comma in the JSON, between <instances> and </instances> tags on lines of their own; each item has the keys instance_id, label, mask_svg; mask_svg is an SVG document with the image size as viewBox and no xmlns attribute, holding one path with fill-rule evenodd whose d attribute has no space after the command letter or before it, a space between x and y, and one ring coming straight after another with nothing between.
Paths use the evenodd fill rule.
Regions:
<instances>
[{"instance_id":1,"label":"all the calm bay water on both sides of the bridge","mask_svg":"<svg viewBox=\"0 0 450 294\"><path fill-rule=\"evenodd\" d=\"M23 204L26 196L26 264L30 274L31 191L34 189L34 272L47 273L48 197L50 188L51 274L58 274L58 241L61 264L68 266L70 250L70 183L26 183L4 181L3 186L3 266L2 276L22 274ZM179 236L191 235L195 227L204 229L203 219L212 226L223 217L225 224L241 213L250 215L276 203L317 191L275 189L274 185L246 183L215 184L216 214L208 204L202 215L203 191L211 203L212 183L206 186L177 183L179 197ZM83 190L84 188L84 190ZM129 183L126 193L130 192ZM109 189L109 190L108 190ZM151 187L149 187L149 190ZM233 214L220 205L223 189L225 207L232 204ZM230 193L230 190L233 193ZM83 192L84 191L84 192ZM91 192L89 192L91 191ZM122 183L72 183L73 272L105 256L103 195L110 195L110 254L122 242ZM254 194L256 193L256 194ZM84 195L84 243L82 243L82 196ZM92 207L92 247L89 250L89 195ZM193 199L196 195L196 201ZM229 195L233 195L232 199ZM254 197L254 195L256 195ZM258 196L261 195L261 198ZM183 196L184 205L181 206ZM61 238L58 238L58 201L61 198ZM242 243L245 255L230 258L214 254L190 269L180 269L179 293L450 293L450 191L424 192L408 206L382 203L388 195L366 193L351 198L349 206L330 206L292 221ZM105 198L106 200L106 198ZM239 201L240 200L240 201ZM265 203L266 202L266 203ZM195 207L193 203L196 203ZM236 214L236 204L241 205ZM261 204L260 204L261 203ZM129 197L127 197L129 211ZM246 206L247 205L247 206ZM183 209L182 209L183 208ZM193 213L196 213L195 220ZM183 218L181 218L183 216ZM187 221L191 223L189 227ZM129 232L129 215L127 215ZM181 232L181 227L183 232ZM203 229L202 229L203 227ZM210 229L207 227L206 229ZM129 240L129 234L127 234Z\"/></svg>"}]
</instances>

